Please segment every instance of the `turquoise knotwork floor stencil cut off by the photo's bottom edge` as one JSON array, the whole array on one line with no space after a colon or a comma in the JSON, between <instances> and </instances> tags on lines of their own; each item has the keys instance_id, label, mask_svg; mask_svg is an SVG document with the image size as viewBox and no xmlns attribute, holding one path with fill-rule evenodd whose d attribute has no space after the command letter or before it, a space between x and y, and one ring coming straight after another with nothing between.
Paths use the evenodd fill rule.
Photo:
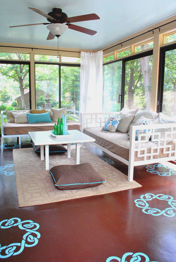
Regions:
<instances>
[{"instance_id":1,"label":"turquoise knotwork floor stencil cut off by the photo's bottom edge","mask_svg":"<svg viewBox=\"0 0 176 262\"><path fill-rule=\"evenodd\" d=\"M144 258L145 258L145 261L144 261ZM115 262L114 259L116 259L116 261L119 261L119 262L140 262L140 261L143 261L143 262L158 262L158 261L153 261L153 260L151 261L146 254L141 253L141 252L138 252L138 253L127 252L127 253L123 254L122 258L117 257L117 256L110 256L106 259L106 262Z\"/></svg>"}]
</instances>

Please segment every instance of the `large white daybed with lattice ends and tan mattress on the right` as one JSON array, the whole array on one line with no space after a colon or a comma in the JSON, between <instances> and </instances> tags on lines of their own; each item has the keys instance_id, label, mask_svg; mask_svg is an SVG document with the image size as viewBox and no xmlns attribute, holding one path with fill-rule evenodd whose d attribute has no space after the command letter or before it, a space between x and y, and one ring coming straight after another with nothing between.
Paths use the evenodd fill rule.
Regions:
<instances>
[{"instance_id":1,"label":"large white daybed with lattice ends and tan mattress on the right","mask_svg":"<svg viewBox=\"0 0 176 262\"><path fill-rule=\"evenodd\" d=\"M133 181L134 166L176 159L176 121L159 122L159 115L155 113L150 125L136 126L132 122L128 129L130 137L127 133L102 128L109 117L119 114L81 113L81 131L95 138L97 147L128 165L128 181ZM139 133L138 140L136 132Z\"/></svg>"}]
</instances>

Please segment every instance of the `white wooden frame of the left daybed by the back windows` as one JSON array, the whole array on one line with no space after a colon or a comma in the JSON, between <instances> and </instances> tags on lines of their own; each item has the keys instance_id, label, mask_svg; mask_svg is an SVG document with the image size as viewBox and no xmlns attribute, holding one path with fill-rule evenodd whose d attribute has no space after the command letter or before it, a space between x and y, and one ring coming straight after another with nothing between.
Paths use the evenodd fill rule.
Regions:
<instances>
[{"instance_id":1,"label":"white wooden frame of the left daybed by the back windows","mask_svg":"<svg viewBox=\"0 0 176 262\"><path fill-rule=\"evenodd\" d=\"M18 110L18 111L20 111L20 110ZM19 145L21 145L21 137L28 137L29 135L28 134L24 134L24 135L23 134L17 134L17 135L6 135L6 134L4 134L4 119L7 118L6 117L6 112L7 111L1 111L1 136L2 136L1 141L3 143L3 138L17 137L19 139L18 140L19 141ZM22 112L24 112L24 110L22 110ZM66 110L66 112L68 113L66 115L67 117L73 117L75 119L78 119L78 121L80 123L80 112L79 111L68 109L68 110ZM78 117L71 115L71 113L78 114Z\"/></svg>"}]
</instances>

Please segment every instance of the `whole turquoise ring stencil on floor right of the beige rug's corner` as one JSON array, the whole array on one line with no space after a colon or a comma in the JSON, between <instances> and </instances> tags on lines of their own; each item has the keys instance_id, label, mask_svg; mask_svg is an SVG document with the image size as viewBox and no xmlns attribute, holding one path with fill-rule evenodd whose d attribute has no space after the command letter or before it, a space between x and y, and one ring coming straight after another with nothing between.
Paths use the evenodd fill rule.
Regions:
<instances>
[{"instance_id":1,"label":"whole turquoise ring stencil on floor right of the beige rug's corner","mask_svg":"<svg viewBox=\"0 0 176 262\"><path fill-rule=\"evenodd\" d=\"M151 201L153 199L166 201L170 207L167 207L163 210L160 210L158 208L151 208L149 207L147 201ZM174 217L176 215L176 200L173 200L172 196L163 194L154 195L151 193L147 193L145 195L141 195L140 199L136 199L134 202L137 207L142 208L142 212L144 212L145 214L149 214L152 216L164 215L166 217Z\"/></svg>"}]
</instances>

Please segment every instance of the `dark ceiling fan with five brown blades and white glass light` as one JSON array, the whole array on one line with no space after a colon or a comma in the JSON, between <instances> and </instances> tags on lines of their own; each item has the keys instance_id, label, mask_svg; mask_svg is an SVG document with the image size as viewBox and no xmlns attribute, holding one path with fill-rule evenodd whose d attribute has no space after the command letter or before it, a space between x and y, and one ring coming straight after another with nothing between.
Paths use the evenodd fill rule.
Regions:
<instances>
[{"instance_id":1,"label":"dark ceiling fan with five brown blades and white glass light","mask_svg":"<svg viewBox=\"0 0 176 262\"><path fill-rule=\"evenodd\" d=\"M97 31L76 26L70 23L74 22L81 22L81 21L89 21L89 20L97 20L100 19L100 17L96 14L88 14L88 15L82 15L82 16L76 16L76 17L67 17L65 13L62 12L62 9L60 8L53 8L52 12L49 12L48 14L44 13L43 11L36 9L36 8L30 8L30 10L38 13L39 15L46 17L49 23L38 23L38 24L29 24L29 25L20 25L20 26L10 26L10 27L22 27L22 26L35 26L35 25L48 25L47 29L50 31L47 37L47 40L54 39L56 36L57 38L61 36L66 29L72 29L84 34L88 35L95 35Z\"/></svg>"}]
</instances>

